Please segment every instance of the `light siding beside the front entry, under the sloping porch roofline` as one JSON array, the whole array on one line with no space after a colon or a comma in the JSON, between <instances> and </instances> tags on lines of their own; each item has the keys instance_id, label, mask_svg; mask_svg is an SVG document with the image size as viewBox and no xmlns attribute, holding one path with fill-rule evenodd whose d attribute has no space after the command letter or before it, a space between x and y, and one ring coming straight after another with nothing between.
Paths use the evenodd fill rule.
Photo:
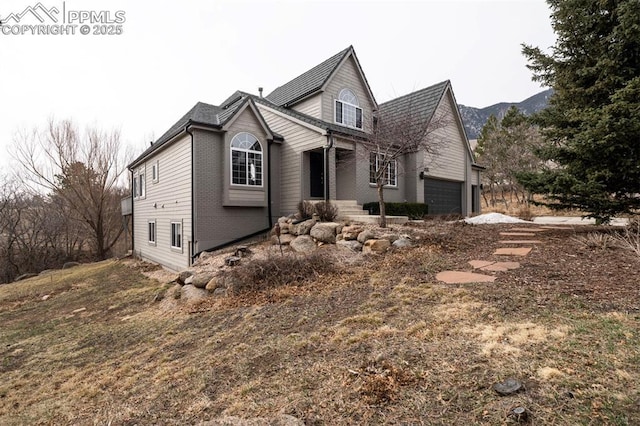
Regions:
<instances>
[{"instance_id":1,"label":"light siding beside the front entry, under the sloping porch roofline","mask_svg":"<svg viewBox=\"0 0 640 426\"><path fill-rule=\"evenodd\" d=\"M326 136L308 129L288 118L274 114L258 104L260 113L269 127L282 136L280 146L280 211L282 214L295 213L298 202L303 199L303 152L321 148L327 142Z\"/></svg>"}]
</instances>

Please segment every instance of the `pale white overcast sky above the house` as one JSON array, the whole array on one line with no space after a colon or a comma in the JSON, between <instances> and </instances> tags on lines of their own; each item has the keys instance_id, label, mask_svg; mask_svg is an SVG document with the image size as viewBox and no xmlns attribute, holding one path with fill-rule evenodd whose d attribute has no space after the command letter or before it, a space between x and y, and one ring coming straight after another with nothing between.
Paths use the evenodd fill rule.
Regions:
<instances>
[{"instance_id":1,"label":"pale white overcast sky above the house","mask_svg":"<svg viewBox=\"0 0 640 426\"><path fill-rule=\"evenodd\" d=\"M29 14L6 22L37 4L2 0L5 31L38 24ZM3 172L20 128L44 126L50 117L119 128L139 153L196 102L217 105L235 90L257 94L259 86L268 94L349 45L378 102L446 79L461 104L521 101L542 88L531 81L520 44L546 49L555 40L543 0L41 4L59 11L58 24L63 11L67 18L108 12L102 17L124 22L105 30L122 34L82 35L77 20L69 35L0 32ZM83 24L96 31L90 18Z\"/></svg>"}]
</instances>

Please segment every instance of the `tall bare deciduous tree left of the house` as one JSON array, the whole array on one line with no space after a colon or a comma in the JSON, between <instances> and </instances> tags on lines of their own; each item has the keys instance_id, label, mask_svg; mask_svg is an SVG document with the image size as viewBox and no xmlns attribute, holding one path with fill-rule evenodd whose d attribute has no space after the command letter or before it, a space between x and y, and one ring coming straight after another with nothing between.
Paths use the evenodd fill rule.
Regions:
<instances>
[{"instance_id":1,"label":"tall bare deciduous tree left of the house","mask_svg":"<svg viewBox=\"0 0 640 426\"><path fill-rule=\"evenodd\" d=\"M25 184L64 201L69 220L89 230L96 258L105 259L123 231L118 189L129 155L119 132L81 133L71 121L50 120L46 130L19 133L13 156Z\"/></svg>"}]
</instances>

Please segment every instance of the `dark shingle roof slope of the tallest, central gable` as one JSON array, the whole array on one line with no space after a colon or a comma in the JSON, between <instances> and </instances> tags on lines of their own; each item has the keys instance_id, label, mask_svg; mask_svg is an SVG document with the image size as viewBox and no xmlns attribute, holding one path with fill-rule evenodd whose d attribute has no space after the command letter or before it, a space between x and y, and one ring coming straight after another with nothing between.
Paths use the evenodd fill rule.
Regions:
<instances>
[{"instance_id":1,"label":"dark shingle roof slope of the tallest, central gable","mask_svg":"<svg viewBox=\"0 0 640 426\"><path fill-rule=\"evenodd\" d=\"M283 106L316 92L324 85L345 55L352 49L352 46L347 47L309 71L283 84L269 93L267 99L278 106Z\"/></svg>"}]
</instances>

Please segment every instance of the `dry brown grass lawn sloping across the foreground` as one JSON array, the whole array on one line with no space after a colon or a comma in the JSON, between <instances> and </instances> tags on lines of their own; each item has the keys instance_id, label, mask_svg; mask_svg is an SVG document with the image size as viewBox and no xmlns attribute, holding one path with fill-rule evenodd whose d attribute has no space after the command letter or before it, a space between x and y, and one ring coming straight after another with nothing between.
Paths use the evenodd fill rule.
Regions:
<instances>
[{"instance_id":1,"label":"dry brown grass lawn sloping across the foreground","mask_svg":"<svg viewBox=\"0 0 640 426\"><path fill-rule=\"evenodd\" d=\"M0 286L0 424L495 425L520 405L532 424L640 423L637 313L546 294L506 315L498 286L434 281L445 243L197 313L161 310L166 286L118 262ZM525 391L491 390L507 377Z\"/></svg>"}]
</instances>

